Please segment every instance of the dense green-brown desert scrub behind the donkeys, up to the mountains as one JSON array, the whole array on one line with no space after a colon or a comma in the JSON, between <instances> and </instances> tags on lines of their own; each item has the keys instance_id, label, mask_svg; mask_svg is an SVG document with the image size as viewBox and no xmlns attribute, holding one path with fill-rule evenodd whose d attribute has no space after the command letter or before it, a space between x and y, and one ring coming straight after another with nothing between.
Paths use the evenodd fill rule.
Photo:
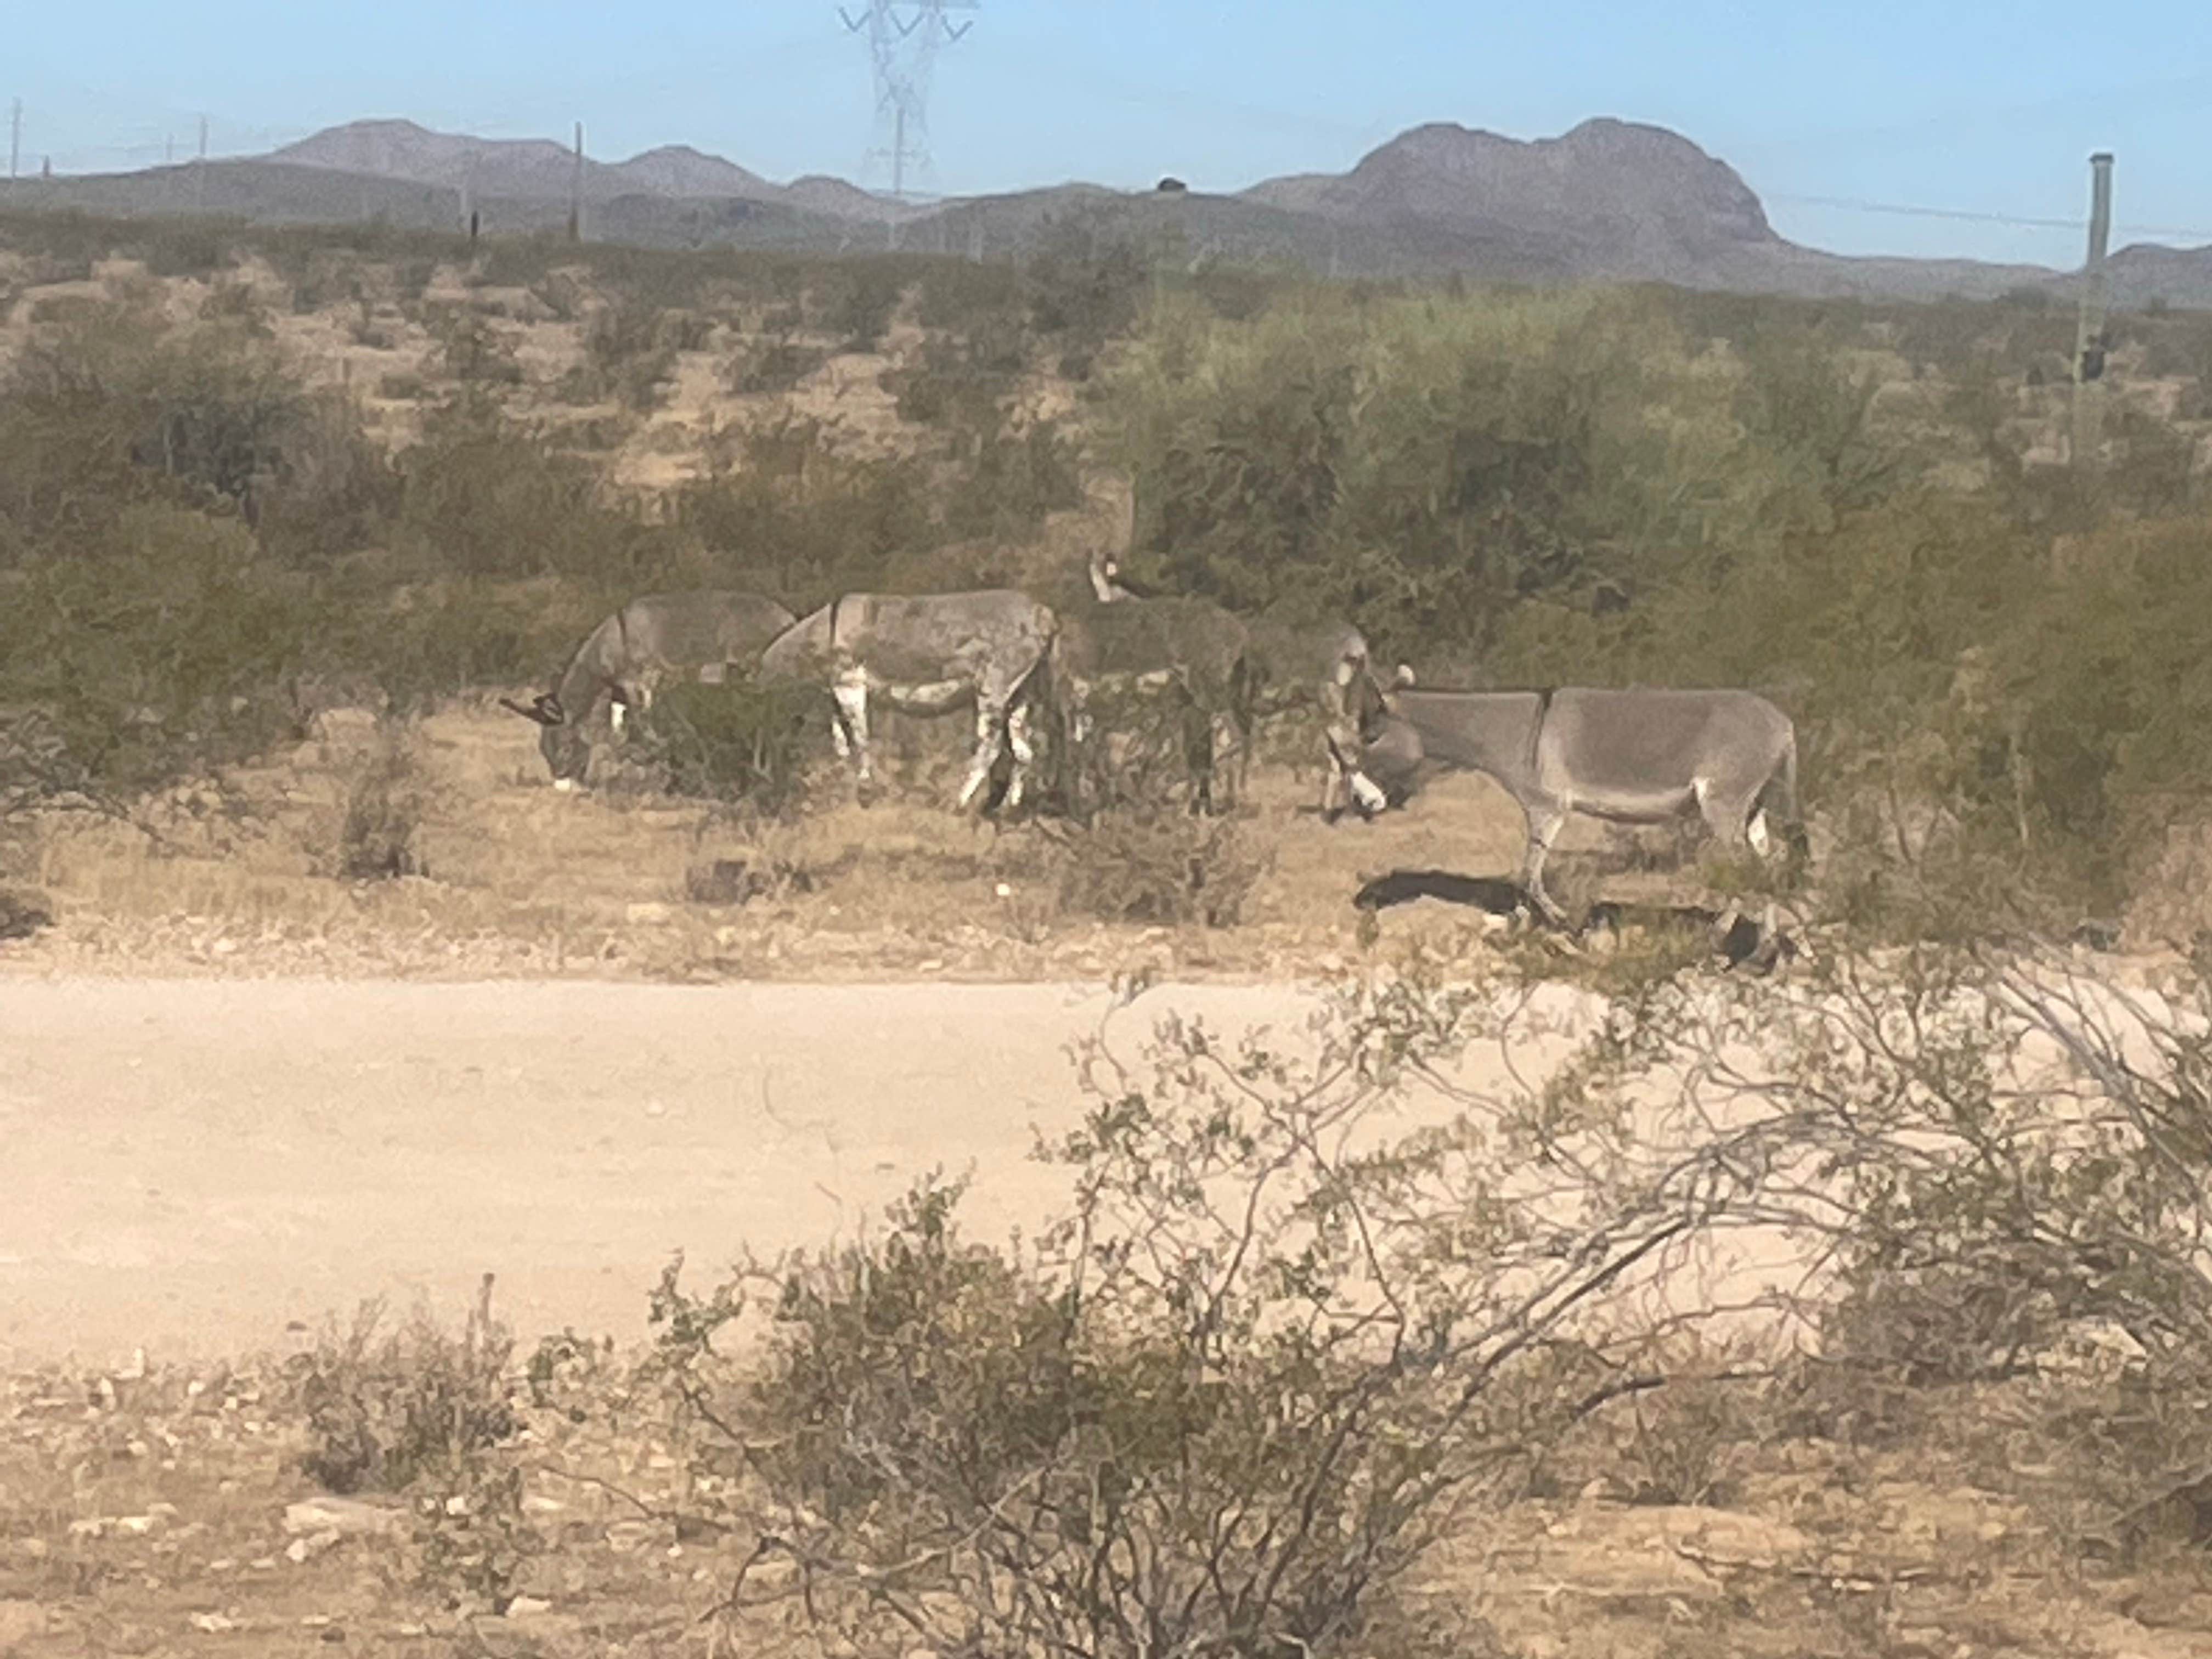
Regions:
<instances>
[{"instance_id":1,"label":"dense green-brown desert scrub behind the donkeys, up to the mountains","mask_svg":"<svg viewBox=\"0 0 2212 1659\"><path fill-rule=\"evenodd\" d=\"M2070 319L2026 294L1192 276L1082 223L991 265L66 215L4 250L18 823L144 818L321 708L542 684L641 591L1053 602L1108 465L1133 577L1352 619L1427 684L1770 690L1838 916L2150 916L2192 867L2194 314L2117 321L2079 469ZM799 812L818 721L774 757L675 721L639 776Z\"/></svg>"}]
</instances>

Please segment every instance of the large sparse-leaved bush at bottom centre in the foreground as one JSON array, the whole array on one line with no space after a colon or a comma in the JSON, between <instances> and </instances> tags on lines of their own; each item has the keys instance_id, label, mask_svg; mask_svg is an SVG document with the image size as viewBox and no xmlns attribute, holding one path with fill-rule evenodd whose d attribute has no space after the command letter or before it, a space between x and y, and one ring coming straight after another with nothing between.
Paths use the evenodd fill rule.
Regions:
<instances>
[{"instance_id":1,"label":"large sparse-leaved bush at bottom centre in the foreground","mask_svg":"<svg viewBox=\"0 0 2212 1659\"><path fill-rule=\"evenodd\" d=\"M1683 1217L1540 1219L1480 1137L1387 1139L1478 1000L1347 993L1310 1044L1091 1044L1084 1124L1040 1148L1071 1210L1035 1243L962 1237L931 1179L858 1243L697 1296L670 1270L657 1367L730 1491L706 1520L763 1540L723 1610L783 1599L863 1655L1358 1650L1447 1513L1517 1495L1610 1398L1635 1338L1584 1301ZM765 1356L721 1360L752 1307Z\"/></svg>"}]
</instances>

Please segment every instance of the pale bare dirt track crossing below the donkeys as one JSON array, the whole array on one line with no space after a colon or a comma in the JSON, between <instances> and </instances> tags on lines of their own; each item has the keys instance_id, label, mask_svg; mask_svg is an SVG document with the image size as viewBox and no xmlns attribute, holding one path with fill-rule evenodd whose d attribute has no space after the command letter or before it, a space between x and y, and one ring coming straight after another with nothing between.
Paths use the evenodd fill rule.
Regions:
<instances>
[{"instance_id":1,"label":"pale bare dirt track crossing below the donkeys","mask_svg":"<svg viewBox=\"0 0 2212 1659\"><path fill-rule=\"evenodd\" d=\"M849 1237L931 1166L971 1230L1066 1190L1102 987L55 980L0 984L0 1363L283 1349L387 1294L524 1343L646 1329L670 1252ZM1294 1024L1292 989L1117 1015ZM1126 1022L1126 1024L1124 1024ZM305 1332L301 1329L305 1327Z\"/></svg>"}]
</instances>

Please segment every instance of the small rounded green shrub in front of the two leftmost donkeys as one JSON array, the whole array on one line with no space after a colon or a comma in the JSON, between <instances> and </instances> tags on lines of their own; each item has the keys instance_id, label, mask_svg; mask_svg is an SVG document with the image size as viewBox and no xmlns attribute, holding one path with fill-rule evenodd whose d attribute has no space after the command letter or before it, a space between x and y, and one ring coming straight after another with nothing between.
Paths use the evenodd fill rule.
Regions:
<instances>
[{"instance_id":1,"label":"small rounded green shrub in front of the two leftmost donkeys","mask_svg":"<svg viewBox=\"0 0 2212 1659\"><path fill-rule=\"evenodd\" d=\"M639 743L672 794L781 816L805 799L810 763L827 748L825 719L818 686L679 681L653 697Z\"/></svg>"}]
</instances>

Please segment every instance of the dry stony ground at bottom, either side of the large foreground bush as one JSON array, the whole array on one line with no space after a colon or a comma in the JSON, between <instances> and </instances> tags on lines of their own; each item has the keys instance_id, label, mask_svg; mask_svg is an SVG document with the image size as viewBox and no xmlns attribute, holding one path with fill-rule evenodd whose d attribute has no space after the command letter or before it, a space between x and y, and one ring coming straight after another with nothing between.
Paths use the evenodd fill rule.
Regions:
<instances>
[{"instance_id":1,"label":"dry stony ground at bottom, either side of the large foreground bush","mask_svg":"<svg viewBox=\"0 0 2212 1659\"><path fill-rule=\"evenodd\" d=\"M719 1639L703 1615L750 1548L679 1531L690 1447L626 1380L626 1356L562 1343L529 1429L522 1555L507 1617L425 1575L425 1522L316 1531L310 1451L274 1363L199 1374L0 1378L0 1652L365 1655L807 1648L774 1608ZM1953 1453L2002 1418L1960 1398L1893 1453L1816 1438L1743 1447L1728 1506L1599 1493L1464 1517L1356 1652L1544 1659L2185 1659L2212 1648L2203 1562L2146 1568L2064 1546L2020 1482ZM431 1557L436 1559L436 1557ZM807 1648L812 1650L812 1648Z\"/></svg>"}]
</instances>

